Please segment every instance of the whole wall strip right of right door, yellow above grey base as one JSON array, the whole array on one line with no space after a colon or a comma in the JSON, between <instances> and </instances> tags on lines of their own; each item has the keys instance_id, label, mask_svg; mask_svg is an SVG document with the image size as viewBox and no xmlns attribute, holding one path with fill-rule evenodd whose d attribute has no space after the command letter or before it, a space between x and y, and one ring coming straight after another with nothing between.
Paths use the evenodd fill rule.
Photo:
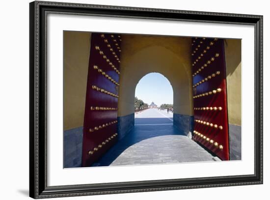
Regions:
<instances>
[{"instance_id":1,"label":"whole wall strip right of right door, yellow above grey base","mask_svg":"<svg viewBox=\"0 0 270 200\"><path fill-rule=\"evenodd\" d=\"M224 42L229 120L230 160L241 160L242 77L241 39Z\"/></svg>"}]
</instances>

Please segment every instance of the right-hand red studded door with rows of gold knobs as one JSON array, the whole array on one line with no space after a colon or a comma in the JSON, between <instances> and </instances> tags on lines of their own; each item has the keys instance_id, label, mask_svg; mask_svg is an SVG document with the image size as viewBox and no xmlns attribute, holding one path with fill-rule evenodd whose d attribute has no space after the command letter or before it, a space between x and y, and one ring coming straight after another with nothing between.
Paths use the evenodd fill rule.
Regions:
<instances>
[{"instance_id":1,"label":"right-hand red studded door with rows of gold knobs","mask_svg":"<svg viewBox=\"0 0 270 200\"><path fill-rule=\"evenodd\" d=\"M226 68L223 39L192 38L193 140L229 160Z\"/></svg>"}]
</instances>

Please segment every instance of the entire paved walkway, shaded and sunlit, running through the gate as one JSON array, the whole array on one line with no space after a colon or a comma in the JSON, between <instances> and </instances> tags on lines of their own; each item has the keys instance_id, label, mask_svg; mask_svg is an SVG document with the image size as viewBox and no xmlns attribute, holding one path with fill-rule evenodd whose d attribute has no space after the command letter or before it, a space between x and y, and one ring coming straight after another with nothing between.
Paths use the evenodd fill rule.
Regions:
<instances>
[{"instance_id":1,"label":"entire paved walkway, shaded and sunlit, running through the gate","mask_svg":"<svg viewBox=\"0 0 270 200\"><path fill-rule=\"evenodd\" d=\"M135 127L92 166L214 161L213 155L173 126L173 114L148 109L135 114Z\"/></svg>"}]
</instances>

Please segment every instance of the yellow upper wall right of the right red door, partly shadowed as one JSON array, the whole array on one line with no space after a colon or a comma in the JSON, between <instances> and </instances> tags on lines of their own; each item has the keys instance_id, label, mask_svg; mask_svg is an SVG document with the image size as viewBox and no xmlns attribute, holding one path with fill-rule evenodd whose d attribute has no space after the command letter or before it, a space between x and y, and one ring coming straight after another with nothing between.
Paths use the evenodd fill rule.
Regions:
<instances>
[{"instance_id":1,"label":"yellow upper wall right of the right red door, partly shadowed","mask_svg":"<svg viewBox=\"0 0 270 200\"><path fill-rule=\"evenodd\" d=\"M241 126L241 40L226 39L224 47L229 123Z\"/></svg>"}]
</instances>

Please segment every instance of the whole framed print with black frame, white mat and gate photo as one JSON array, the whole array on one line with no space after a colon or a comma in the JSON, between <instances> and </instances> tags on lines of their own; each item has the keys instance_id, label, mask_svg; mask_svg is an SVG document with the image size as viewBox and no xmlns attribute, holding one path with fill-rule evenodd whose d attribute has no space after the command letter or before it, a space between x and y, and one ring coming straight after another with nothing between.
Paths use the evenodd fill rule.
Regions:
<instances>
[{"instance_id":1,"label":"whole framed print with black frame, white mat and gate photo","mask_svg":"<svg viewBox=\"0 0 270 200\"><path fill-rule=\"evenodd\" d=\"M30 3L30 197L263 183L263 17Z\"/></svg>"}]
</instances>

